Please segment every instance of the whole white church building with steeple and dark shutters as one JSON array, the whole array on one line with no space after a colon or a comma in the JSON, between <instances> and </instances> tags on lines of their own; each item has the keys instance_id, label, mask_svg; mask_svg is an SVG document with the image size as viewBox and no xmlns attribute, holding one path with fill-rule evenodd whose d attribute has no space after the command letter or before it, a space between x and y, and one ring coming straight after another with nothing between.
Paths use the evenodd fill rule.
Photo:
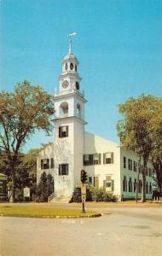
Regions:
<instances>
[{"instance_id":1,"label":"whole white church building with steeple and dark shutters","mask_svg":"<svg viewBox=\"0 0 162 256\"><path fill-rule=\"evenodd\" d=\"M49 201L69 201L76 184L80 182L80 172L85 170L88 181L95 188L107 191L124 199L135 199L138 157L134 152L121 148L95 134L86 132L84 126L84 104L81 93L81 77L78 74L78 59L69 53L61 62L60 89L55 90L55 141L44 148L37 158L37 182L43 172L54 178L54 193ZM139 180L142 180L142 162ZM146 197L152 198L153 166L148 163ZM141 197L142 183L139 186Z\"/></svg>"}]
</instances>

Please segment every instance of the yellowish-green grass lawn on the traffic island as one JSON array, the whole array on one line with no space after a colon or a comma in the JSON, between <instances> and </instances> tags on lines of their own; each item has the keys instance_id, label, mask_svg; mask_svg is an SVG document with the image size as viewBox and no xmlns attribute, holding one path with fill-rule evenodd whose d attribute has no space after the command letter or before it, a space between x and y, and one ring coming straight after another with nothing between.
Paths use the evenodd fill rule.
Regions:
<instances>
[{"instance_id":1,"label":"yellowish-green grass lawn on the traffic island","mask_svg":"<svg viewBox=\"0 0 162 256\"><path fill-rule=\"evenodd\" d=\"M35 218L55 218L55 216L65 217L95 217L98 212L85 212L76 209L47 208L34 206L0 206L0 215L17 217L35 217Z\"/></svg>"}]
</instances>

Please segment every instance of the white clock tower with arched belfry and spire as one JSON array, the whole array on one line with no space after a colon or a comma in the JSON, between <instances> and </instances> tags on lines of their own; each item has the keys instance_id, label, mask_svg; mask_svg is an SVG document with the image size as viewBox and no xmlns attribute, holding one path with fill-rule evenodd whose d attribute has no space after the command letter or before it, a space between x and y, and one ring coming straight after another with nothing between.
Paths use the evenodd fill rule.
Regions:
<instances>
[{"instance_id":1,"label":"white clock tower with arched belfry and spire","mask_svg":"<svg viewBox=\"0 0 162 256\"><path fill-rule=\"evenodd\" d=\"M76 183L80 181L84 155L84 94L78 59L69 52L61 61L60 90L55 91L55 197L69 200Z\"/></svg>"}]
</instances>

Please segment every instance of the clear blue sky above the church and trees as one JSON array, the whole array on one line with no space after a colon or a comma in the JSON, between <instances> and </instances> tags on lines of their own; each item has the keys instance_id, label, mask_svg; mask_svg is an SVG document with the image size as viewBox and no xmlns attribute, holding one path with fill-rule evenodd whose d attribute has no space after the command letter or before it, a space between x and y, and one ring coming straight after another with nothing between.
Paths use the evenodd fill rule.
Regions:
<instances>
[{"instance_id":1,"label":"clear blue sky above the church and trees","mask_svg":"<svg viewBox=\"0 0 162 256\"><path fill-rule=\"evenodd\" d=\"M1 0L0 88L27 79L54 94L68 51L80 61L86 131L119 142L118 104L162 95L162 1ZM25 150L53 137L36 133Z\"/></svg>"}]
</instances>

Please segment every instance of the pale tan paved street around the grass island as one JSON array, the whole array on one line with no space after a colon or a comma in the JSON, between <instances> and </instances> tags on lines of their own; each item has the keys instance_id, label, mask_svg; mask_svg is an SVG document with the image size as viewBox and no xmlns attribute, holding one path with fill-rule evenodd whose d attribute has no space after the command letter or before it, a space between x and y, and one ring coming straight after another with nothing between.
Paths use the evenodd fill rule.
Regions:
<instances>
[{"instance_id":1,"label":"pale tan paved street around the grass island","mask_svg":"<svg viewBox=\"0 0 162 256\"><path fill-rule=\"evenodd\" d=\"M162 256L162 207L89 205L89 209L100 211L102 217L1 217L0 255Z\"/></svg>"}]
</instances>

